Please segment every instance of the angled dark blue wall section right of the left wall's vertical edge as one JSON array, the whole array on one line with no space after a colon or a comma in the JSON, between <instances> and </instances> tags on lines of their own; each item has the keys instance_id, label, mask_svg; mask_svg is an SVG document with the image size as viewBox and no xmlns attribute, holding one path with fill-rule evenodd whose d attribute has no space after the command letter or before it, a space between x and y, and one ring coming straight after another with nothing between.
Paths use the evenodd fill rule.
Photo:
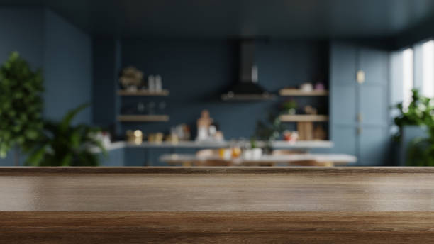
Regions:
<instances>
[{"instance_id":1,"label":"angled dark blue wall section right of the left wall's vertical edge","mask_svg":"<svg viewBox=\"0 0 434 244\"><path fill-rule=\"evenodd\" d=\"M89 35L45 9L45 117L60 119L80 104L91 103L92 45ZM91 123L91 107L75 123Z\"/></svg>"}]
</instances>

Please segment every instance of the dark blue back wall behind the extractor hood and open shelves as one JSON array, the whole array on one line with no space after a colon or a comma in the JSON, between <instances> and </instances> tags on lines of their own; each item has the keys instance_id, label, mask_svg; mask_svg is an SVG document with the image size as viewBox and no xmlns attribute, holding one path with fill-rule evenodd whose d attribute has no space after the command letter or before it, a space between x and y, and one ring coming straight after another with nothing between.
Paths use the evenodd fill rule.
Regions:
<instances>
[{"instance_id":1,"label":"dark blue back wall behind the extractor hood and open shelves","mask_svg":"<svg viewBox=\"0 0 434 244\"><path fill-rule=\"evenodd\" d=\"M229 40L123 40L122 65L135 66L145 73L160 74L168 97L123 97L123 107L138 101L166 101L168 123L122 123L126 129L145 133L167 132L170 126L193 126L202 109L208 109L226 138L249 138L257 120L276 111L276 101L223 102L220 96L238 81L238 41ZM327 77L328 46L308 41L262 41L257 44L260 84L269 91ZM325 98L298 99L299 104L314 104L327 110ZM289 127L294 128L293 125Z\"/></svg>"}]
</instances>

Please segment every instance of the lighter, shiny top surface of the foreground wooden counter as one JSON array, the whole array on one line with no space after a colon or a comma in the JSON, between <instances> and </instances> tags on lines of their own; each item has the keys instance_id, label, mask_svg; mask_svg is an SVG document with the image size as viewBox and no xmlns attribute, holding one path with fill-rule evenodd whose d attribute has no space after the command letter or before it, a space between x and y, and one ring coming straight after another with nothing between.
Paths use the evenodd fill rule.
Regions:
<instances>
[{"instance_id":1,"label":"lighter, shiny top surface of the foreground wooden counter","mask_svg":"<svg viewBox=\"0 0 434 244\"><path fill-rule=\"evenodd\" d=\"M1 211L434 211L431 168L0 168Z\"/></svg>"}]
</instances>

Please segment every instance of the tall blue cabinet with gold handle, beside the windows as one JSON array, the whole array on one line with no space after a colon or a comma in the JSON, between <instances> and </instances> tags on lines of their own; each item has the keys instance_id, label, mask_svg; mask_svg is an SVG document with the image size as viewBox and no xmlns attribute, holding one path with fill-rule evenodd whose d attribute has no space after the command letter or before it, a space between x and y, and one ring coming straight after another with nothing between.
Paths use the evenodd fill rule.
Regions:
<instances>
[{"instance_id":1,"label":"tall blue cabinet with gold handle, beside the windows","mask_svg":"<svg viewBox=\"0 0 434 244\"><path fill-rule=\"evenodd\" d=\"M389 153L389 51L330 44L330 135L335 153L357 165L385 165Z\"/></svg>"}]
</instances>

